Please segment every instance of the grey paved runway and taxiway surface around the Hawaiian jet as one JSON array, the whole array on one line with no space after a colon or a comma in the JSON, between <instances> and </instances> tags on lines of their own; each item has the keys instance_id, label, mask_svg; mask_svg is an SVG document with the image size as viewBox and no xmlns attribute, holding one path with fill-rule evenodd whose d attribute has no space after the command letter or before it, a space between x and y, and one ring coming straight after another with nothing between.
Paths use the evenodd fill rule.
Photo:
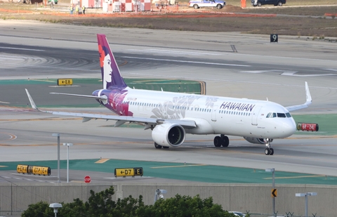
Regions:
<instances>
[{"instance_id":1,"label":"grey paved runway and taxiway surface around the Hawaiian jet","mask_svg":"<svg viewBox=\"0 0 337 217\"><path fill-rule=\"evenodd\" d=\"M266 156L263 145L230 137L229 147L213 146L214 136L187 135L177 148L156 150L151 131L113 121L88 121L51 117L27 107L25 88L37 105L55 107L58 101L70 106L64 96L51 96L55 87L48 79L98 78L95 34L107 34L124 77L190 79L206 82L206 93L215 96L254 98L284 106L305 100L308 81L312 105L293 114L335 114L337 107L337 44L280 36L271 44L267 36L212 32L176 32L153 29L113 29L52 25L41 22L0 20L1 79L43 79L41 85L1 85L1 162L55 159L55 138L74 143L72 159L136 159L237 166L252 169L275 168L337 176L336 136L296 134L275 140L275 155ZM15 28L13 28L15 26ZM230 45L235 45L234 53ZM87 84L58 88L58 92L91 94L100 88ZM87 99L81 99L87 100ZM72 106L73 107L73 106ZM57 108L84 112L105 112L104 108ZM336 121L336 120L331 120ZM62 152L65 159L65 152Z\"/></svg>"}]
</instances>

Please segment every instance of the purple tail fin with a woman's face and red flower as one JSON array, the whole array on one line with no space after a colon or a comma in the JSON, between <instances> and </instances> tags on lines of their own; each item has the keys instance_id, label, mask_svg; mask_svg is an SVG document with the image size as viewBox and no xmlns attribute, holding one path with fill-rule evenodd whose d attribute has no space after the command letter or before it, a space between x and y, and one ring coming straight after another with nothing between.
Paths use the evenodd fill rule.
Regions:
<instances>
[{"instance_id":1,"label":"purple tail fin with a woman's face and red flower","mask_svg":"<svg viewBox=\"0 0 337 217\"><path fill-rule=\"evenodd\" d=\"M103 89L110 87L125 88L123 78L119 72L118 65L111 52L105 34L97 34L98 53L100 54L100 70L102 72Z\"/></svg>"}]
</instances>

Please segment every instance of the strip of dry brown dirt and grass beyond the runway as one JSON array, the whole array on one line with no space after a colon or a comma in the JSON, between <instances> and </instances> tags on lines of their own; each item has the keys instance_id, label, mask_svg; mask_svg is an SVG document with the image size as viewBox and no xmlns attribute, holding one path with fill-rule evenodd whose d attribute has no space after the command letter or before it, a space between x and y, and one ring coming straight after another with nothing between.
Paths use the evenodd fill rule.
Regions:
<instances>
[{"instance_id":1,"label":"strip of dry brown dirt and grass beyond the runway","mask_svg":"<svg viewBox=\"0 0 337 217\"><path fill-rule=\"evenodd\" d=\"M145 13L101 13L100 9L88 8L86 15L70 15L67 6L58 5L51 10L43 6L2 3L0 18L102 27L284 34L308 36L311 39L337 37L337 19L324 15L337 14L337 6L315 6L305 10L295 8L282 6L242 9L239 6L227 5L220 10L215 8L194 10L181 6L176 11Z\"/></svg>"}]
</instances>

